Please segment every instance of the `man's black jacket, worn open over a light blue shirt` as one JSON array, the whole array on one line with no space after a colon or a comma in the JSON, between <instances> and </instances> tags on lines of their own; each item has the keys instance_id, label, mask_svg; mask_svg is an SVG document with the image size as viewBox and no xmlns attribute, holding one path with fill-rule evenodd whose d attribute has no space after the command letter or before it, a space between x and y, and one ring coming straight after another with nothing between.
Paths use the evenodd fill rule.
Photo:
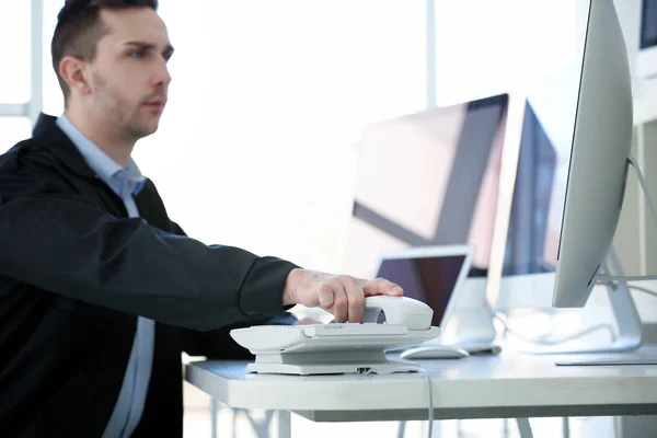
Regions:
<instances>
[{"instance_id":1,"label":"man's black jacket, worn open over a light blue shirt","mask_svg":"<svg viewBox=\"0 0 657 438\"><path fill-rule=\"evenodd\" d=\"M251 357L230 328L289 322L296 265L185 237L150 180L136 201L129 218L50 116L0 157L0 435L101 436L142 315L155 345L135 436L182 436L181 353Z\"/></svg>"}]
</instances>

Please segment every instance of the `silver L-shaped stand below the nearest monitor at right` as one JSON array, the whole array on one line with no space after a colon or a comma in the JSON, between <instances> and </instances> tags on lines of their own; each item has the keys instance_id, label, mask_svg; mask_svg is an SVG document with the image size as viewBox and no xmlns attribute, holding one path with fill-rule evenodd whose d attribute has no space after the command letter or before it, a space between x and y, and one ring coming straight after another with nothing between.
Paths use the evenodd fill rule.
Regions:
<instances>
[{"instance_id":1,"label":"silver L-shaped stand below the nearest monitor at right","mask_svg":"<svg viewBox=\"0 0 657 438\"><path fill-rule=\"evenodd\" d=\"M609 250L606 261L606 269L610 272L609 265L612 267L614 275L622 276L622 268L618 256L612 249ZM521 353L534 355L589 355L589 354L609 354L609 353L627 353L634 351L642 345L642 326L641 318L634 304L634 299L630 293L627 284L624 280L619 280L616 285L608 284L607 293L611 303L614 319L618 323L618 337L609 345L596 345L590 347L567 347L563 345L537 346L520 349ZM577 359L561 359L556 365L561 366L578 366L578 365L610 365L611 358L606 355L604 359L597 360L595 357L577 358ZM633 355L619 355L613 359L614 365L635 365L637 357ZM657 365L657 357L642 357L642 365ZM626 364L622 364L626 362Z\"/></svg>"}]
</instances>

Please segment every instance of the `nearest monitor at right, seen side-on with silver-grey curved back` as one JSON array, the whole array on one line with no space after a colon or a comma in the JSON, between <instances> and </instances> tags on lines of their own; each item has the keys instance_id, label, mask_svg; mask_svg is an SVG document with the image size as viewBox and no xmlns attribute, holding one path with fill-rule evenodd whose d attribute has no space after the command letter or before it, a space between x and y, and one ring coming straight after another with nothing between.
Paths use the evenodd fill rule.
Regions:
<instances>
[{"instance_id":1,"label":"nearest monitor at right, seen side-on with silver-grey curved back","mask_svg":"<svg viewBox=\"0 0 657 438\"><path fill-rule=\"evenodd\" d=\"M592 0L560 234L553 304L579 308L615 233L632 148L632 78L612 0Z\"/></svg>"}]
</instances>

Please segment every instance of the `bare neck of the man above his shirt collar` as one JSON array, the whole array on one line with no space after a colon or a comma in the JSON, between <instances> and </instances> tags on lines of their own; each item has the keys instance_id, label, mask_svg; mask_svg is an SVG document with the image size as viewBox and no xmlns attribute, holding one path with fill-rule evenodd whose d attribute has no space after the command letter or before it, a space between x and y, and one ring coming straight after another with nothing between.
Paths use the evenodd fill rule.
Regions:
<instances>
[{"instance_id":1,"label":"bare neck of the man above his shirt collar","mask_svg":"<svg viewBox=\"0 0 657 438\"><path fill-rule=\"evenodd\" d=\"M118 163L122 168L128 165L132 148L135 147L134 141L125 140L116 135L116 131L112 129L111 124L97 123L89 115L82 116L77 111L67 108L65 111L66 117L70 123L89 138L95 146L97 146L103 152L107 154L112 160Z\"/></svg>"}]
</instances>

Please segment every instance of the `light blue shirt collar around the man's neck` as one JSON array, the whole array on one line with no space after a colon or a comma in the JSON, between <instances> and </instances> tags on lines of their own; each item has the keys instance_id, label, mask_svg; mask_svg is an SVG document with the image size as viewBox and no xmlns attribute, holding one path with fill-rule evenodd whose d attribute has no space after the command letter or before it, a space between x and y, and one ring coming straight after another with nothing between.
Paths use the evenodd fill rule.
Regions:
<instances>
[{"instance_id":1,"label":"light blue shirt collar around the man's neck","mask_svg":"<svg viewBox=\"0 0 657 438\"><path fill-rule=\"evenodd\" d=\"M118 196L137 195L143 188L146 177L139 171L137 163L130 158L128 164L122 168L101 148L84 136L68 119L66 114L57 118L57 126L71 139L87 164L105 182Z\"/></svg>"}]
</instances>

